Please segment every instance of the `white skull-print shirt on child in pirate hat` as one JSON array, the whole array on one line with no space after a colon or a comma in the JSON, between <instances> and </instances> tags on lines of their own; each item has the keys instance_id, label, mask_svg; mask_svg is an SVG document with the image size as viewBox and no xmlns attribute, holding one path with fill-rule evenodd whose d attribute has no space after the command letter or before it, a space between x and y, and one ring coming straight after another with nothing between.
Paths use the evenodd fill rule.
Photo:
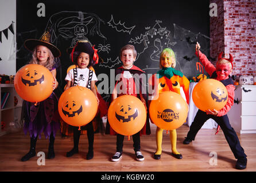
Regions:
<instances>
[{"instance_id":1,"label":"white skull-print shirt on child in pirate hat","mask_svg":"<svg viewBox=\"0 0 256 183\"><path fill-rule=\"evenodd\" d=\"M77 85L79 86L83 86L83 87L87 87L88 85L88 79L89 79L89 70L88 68L85 69L80 69L80 68L76 68L77 69ZM73 86L73 82L74 82L74 72L73 69L68 71L67 76L65 77L66 81L72 81L72 85ZM92 79L91 81L98 81L96 74L94 72L92 72Z\"/></svg>"}]
</instances>

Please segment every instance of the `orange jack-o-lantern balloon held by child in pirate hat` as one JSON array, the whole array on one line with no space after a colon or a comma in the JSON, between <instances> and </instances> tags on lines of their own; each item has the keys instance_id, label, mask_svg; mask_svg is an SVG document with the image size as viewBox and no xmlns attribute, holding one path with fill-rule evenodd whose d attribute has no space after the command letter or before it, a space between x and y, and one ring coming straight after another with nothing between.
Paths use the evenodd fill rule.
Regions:
<instances>
[{"instance_id":1,"label":"orange jack-o-lantern balloon held by child in pirate hat","mask_svg":"<svg viewBox=\"0 0 256 183\"><path fill-rule=\"evenodd\" d=\"M59 99L61 118L72 126L83 126L92 121L98 110L95 94L87 87L72 86Z\"/></svg>"}]
</instances>

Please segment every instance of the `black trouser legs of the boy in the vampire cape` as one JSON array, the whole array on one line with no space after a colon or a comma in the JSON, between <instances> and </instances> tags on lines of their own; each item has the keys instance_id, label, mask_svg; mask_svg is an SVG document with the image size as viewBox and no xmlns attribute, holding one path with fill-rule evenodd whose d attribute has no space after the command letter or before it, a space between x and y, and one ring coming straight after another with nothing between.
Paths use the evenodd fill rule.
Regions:
<instances>
[{"instance_id":1,"label":"black trouser legs of the boy in the vampire cape","mask_svg":"<svg viewBox=\"0 0 256 183\"><path fill-rule=\"evenodd\" d=\"M117 134L117 152L120 152L120 153L123 152L124 138L125 136L121 134ZM141 150L141 137L139 136L139 132L133 135L133 147L135 152Z\"/></svg>"}]
</instances>

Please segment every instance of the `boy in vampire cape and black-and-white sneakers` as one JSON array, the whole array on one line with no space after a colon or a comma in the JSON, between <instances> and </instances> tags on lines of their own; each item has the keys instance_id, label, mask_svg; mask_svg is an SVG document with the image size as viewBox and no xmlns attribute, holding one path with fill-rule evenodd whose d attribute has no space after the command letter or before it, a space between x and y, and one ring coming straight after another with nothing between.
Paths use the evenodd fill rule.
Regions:
<instances>
[{"instance_id":1,"label":"boy in vampire cape and black-and-white sneakers","mask_svg":"<svg viewBox=\"0 0 256 183\"><path fill-rule=\"evenodd\" d=\"M126 86L126 88L125 89L122 88L120 90L125 91L125 93L118 91L118 89L115 87L111 100L113 101L115 100L115 98L122 96L123 94L129 94L139 98L139 100L142 101L142 103L145 105L145 108L148 110L147 108L148 100L146 97L146 90L143 87L145 83L142 83L143 80L141 77L141 75L144 74L145 72L139 69L137 66L133 65L136 56L137 56L137 51L135 50L133 45L126 45L122 47L120 51L120 57L123 65L115 69L115 78L117 78L117 76L120 77L115 86L119 85L119 82L122 82L122 86ZM135 77L139 77L139 79L135 79ZM139 82L136 82L136 81L139 81ZM136 89L139 89L139 92L135 92ZM117 135L117 152L111 158L111 161L119 161L123 154L124 136L116 133L111 128L108 121L106 124L106 134ZM140 148L141 148L140 136L142 134L150 134L149 115L147 115L146 123L143 126L142 130L133 135L133 142L134 142L133 147L134 147L136 159L138 161L144 160L144 157L140 151Z\"/></svg>"}]
</instances>

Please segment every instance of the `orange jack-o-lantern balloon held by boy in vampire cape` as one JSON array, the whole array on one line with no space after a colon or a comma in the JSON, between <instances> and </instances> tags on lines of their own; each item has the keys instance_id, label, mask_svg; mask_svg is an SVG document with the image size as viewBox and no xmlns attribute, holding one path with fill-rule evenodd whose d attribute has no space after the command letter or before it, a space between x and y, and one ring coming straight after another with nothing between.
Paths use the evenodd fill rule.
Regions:
<instances>
[{"instance_id":1,"label":"orange jack-o-lantern balloon held by boy in vampire cape","mask_svg":"<svg viewBox=\"0 0 256 183\"><path fill-rule=\"evenodd\" d=\"M146 108L137 97L123 95L111 102L107 117L115 132L131 136L145 125Z\"/></svg>"}]
</instances>

